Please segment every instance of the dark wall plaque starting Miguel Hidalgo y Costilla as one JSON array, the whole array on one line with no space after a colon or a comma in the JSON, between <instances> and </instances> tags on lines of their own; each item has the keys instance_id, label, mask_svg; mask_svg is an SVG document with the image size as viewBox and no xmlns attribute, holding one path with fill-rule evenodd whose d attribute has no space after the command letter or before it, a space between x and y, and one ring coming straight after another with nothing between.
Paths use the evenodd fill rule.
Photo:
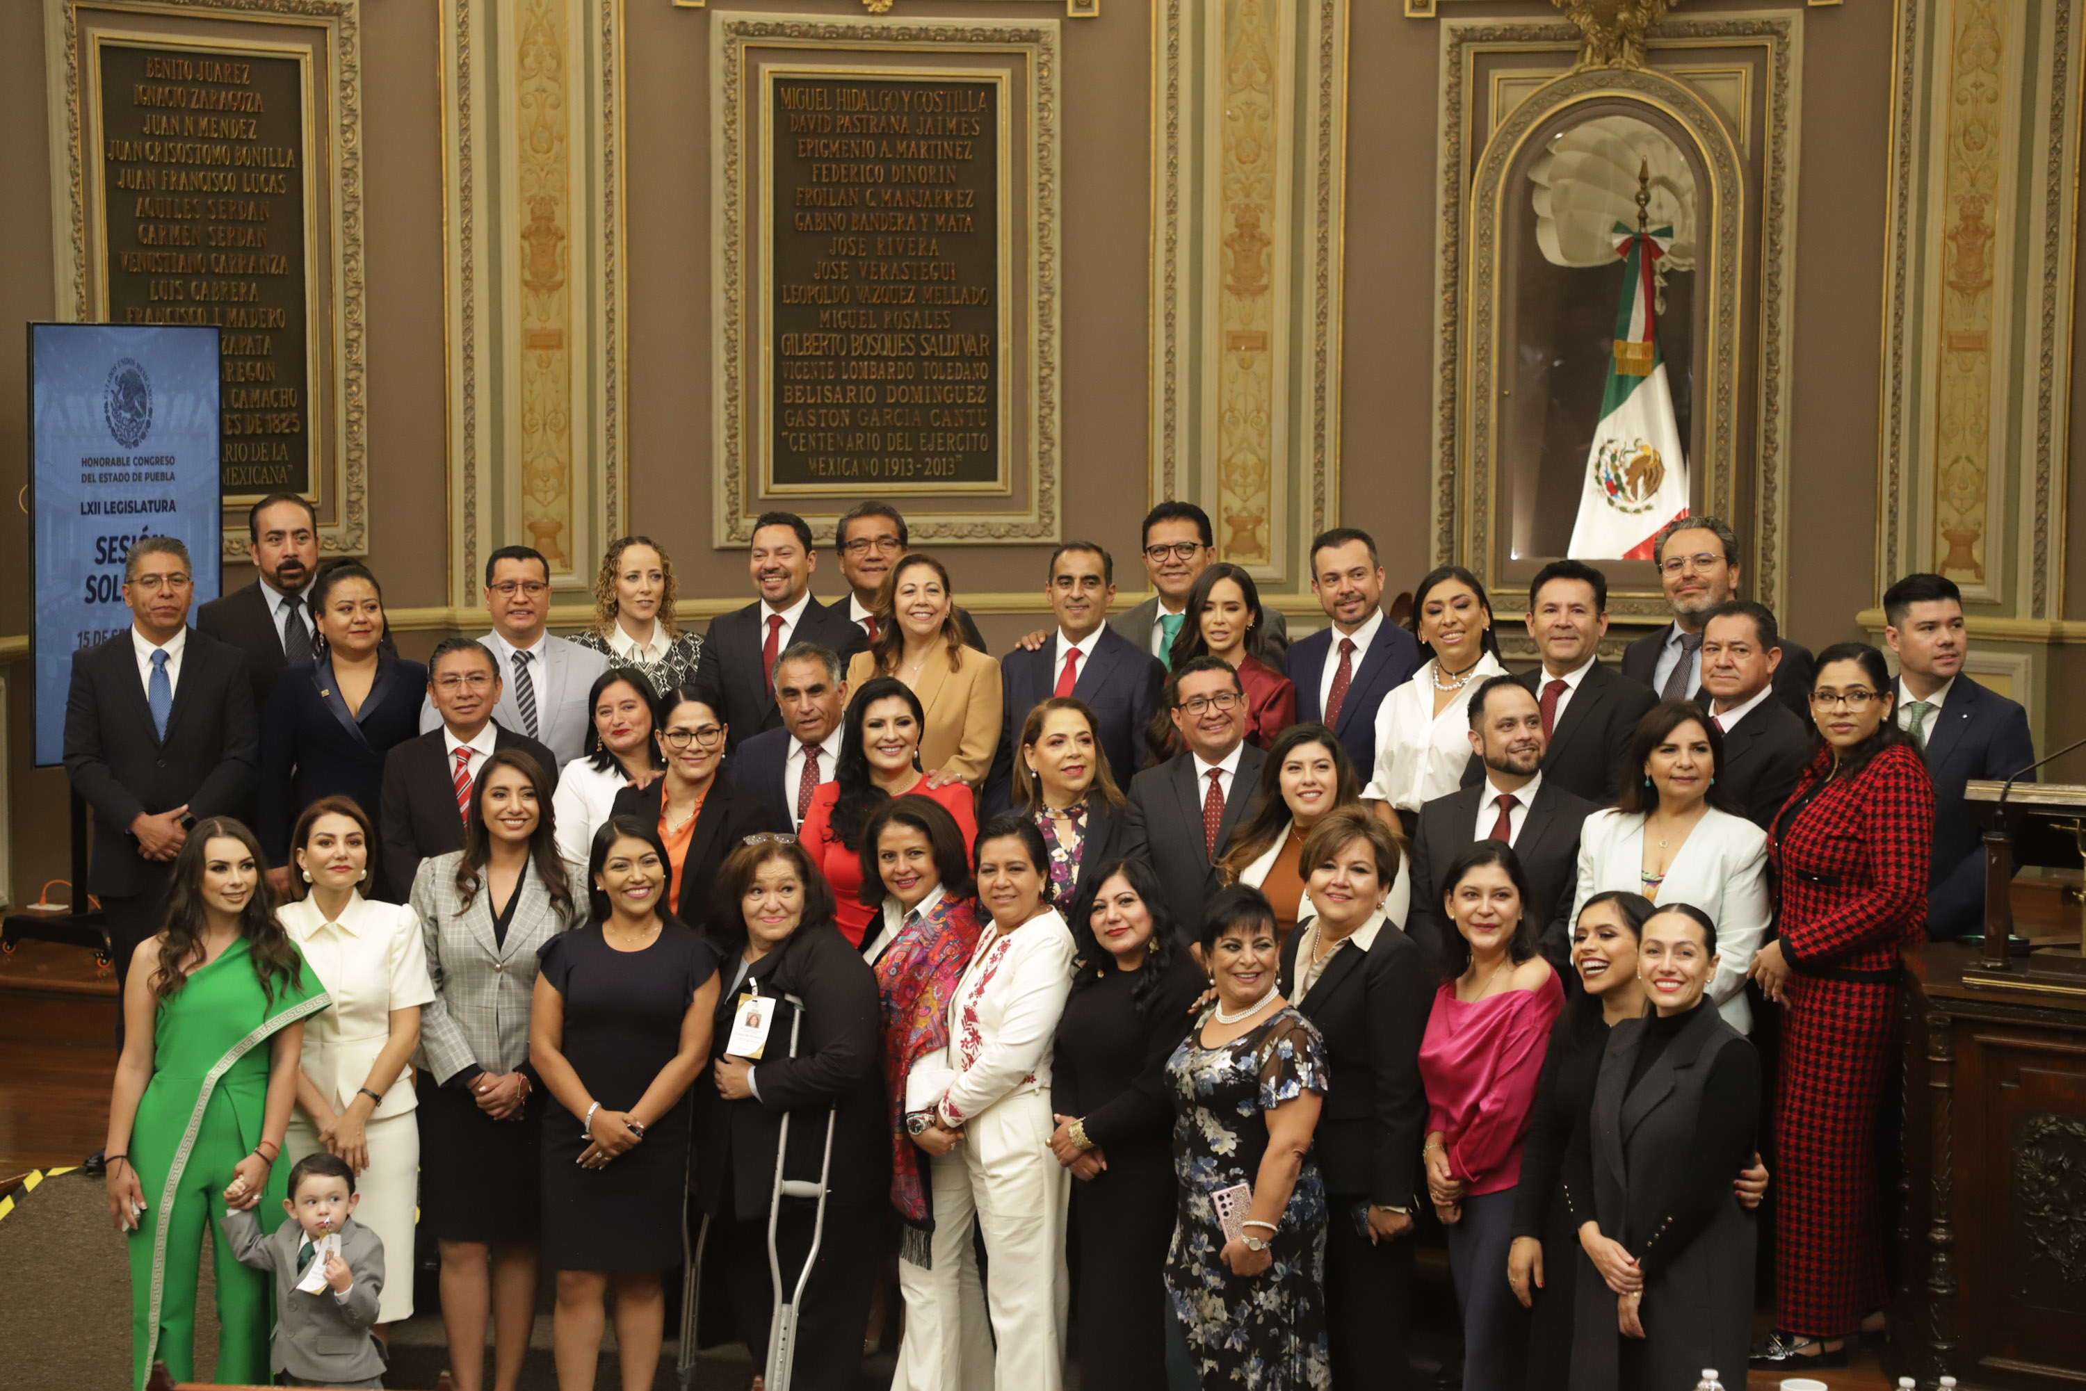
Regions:
<instances>
[{"instance_id":1,"label":"dark wall plaque starting Miguel Hidalgo y Costilla","mask_svg":"<svg viewBox=\"0 0 2086 1391\"><path fill-rule=\"evenodd\" d=\"M768 490L1005 490L999 83L776 73L768 119Z\"/></svg>"}]
</instances>

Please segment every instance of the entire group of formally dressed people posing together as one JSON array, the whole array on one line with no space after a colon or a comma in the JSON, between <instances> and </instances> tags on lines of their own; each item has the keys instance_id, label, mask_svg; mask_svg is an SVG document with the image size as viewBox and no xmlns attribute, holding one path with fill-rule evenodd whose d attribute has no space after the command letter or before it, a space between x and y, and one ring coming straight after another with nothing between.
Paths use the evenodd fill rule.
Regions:
<instances>
[{"instance_id":1,"label":"entire group of formally dressed people posing together","mask_svg":"<svg viewBox=\"0 0 2086 1391\"><path fill-rule=\"evenodd\" d=\"M1512 676L1473 574L1396 621L1350 528L1289 642L1162 503L1154 599L1110 615L1112 557L1066 542L1001 659L895 509L836 548L822 605L809 528L763 515L757 599L697 636L624 538L567 640L507 546L492 630L426 665L300 498L194 628L179 542L131 548L67 770L123 978L140 1381L192 1370L204 1226L221 1381L380 1374L415 1210L461 1391L488 1331L515 1385L540 1264L567 1391L609 1316L651 1385L690 1249L699 1337L759 1358L776 1203L803 1387L855 1383L893 1258L901 1389L1072 1356L1089 1391L1398 1387L1429 1230L1469 1391L1844 1364L1884 1303L1898 949L1975 930L1963 782L2034 761L1948 580L1886 594L1892 676L1784 638L1683 517L1621 672L1606 578L1556 561ZM240 1214L275 1207L315 1243L269 1264Z\"/></svg>"}]
</instances>

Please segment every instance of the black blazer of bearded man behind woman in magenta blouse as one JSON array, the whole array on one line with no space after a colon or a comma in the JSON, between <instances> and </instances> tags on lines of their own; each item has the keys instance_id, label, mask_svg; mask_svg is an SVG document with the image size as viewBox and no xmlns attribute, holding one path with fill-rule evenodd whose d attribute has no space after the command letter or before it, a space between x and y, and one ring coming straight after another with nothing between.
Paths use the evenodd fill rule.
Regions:
<instances>
[{"instance_id":1,"label":"black blazer of bearded man behind woman in magenta blouse","mask_svg":"<svg viewBox=\"0 0 2086 1391\"><path fill-rule=\"evenodd\" d=\"M1569 715L1571 707L1564 707L1564 713ZM1477 840L1477 805L1483 799L1485 786L1479 784L1435 797L1421 807L1418 828L1412 834L1412 909L1406 913L1406 936L1418 943L1429 966L1441 959L1444 932L1454 932L1441 918L1446 888L1441 880L1448 878L1456 855ZM1596 811L1600 811L1596 803L1544 774L1514 840L1514 857L1521 859L1529 897L1535 901L1531 911L1542 913L1544 955L1560 972L1571 966L1567 918L1573 890L1579 888L1579 828Z\"/></svg>"}]
</instances>

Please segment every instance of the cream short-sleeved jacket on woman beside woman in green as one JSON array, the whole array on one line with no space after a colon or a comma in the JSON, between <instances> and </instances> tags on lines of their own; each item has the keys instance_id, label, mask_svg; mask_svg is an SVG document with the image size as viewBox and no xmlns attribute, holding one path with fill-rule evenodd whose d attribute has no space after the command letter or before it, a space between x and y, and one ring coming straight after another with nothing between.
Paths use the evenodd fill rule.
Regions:
<instances>
[{"instance_id":1,"label":"cream short-sleeved jacket on woman beside woman in green","mask_svg":"<svg viewBox=\"0 0 2086 1391\"><path fill-rule=\"evenodd\" d=\"M344 1112L390 1041L390 1011L434 1001L419 913L405 903L355 895L340 922L325 922L311 899L286 903L275 918L334 997L332 1009L305 1020L302 1068L328 1103ZM413 1107L413 1070L401 1068L369 1118L403 1116Z\"/></svg>"}]
</instances>

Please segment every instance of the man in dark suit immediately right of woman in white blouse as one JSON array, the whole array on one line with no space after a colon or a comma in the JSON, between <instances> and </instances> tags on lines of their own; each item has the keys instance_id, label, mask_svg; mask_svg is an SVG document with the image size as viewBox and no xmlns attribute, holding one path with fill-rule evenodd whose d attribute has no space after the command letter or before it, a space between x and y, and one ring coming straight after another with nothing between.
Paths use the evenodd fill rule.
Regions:
<instances>
[{"instance_id":1,"label":"man in dark suit immediately right of woman in white blouse","mask_svg":"<svg viewBox=\"0 0 2086 1391\"><path fill-rule=\"evenodd\" d=\"M1550 561L1529 586L1529 636L1544 663L1514 680L1535 694L1544 717L1544 778L1606 807L1623 780L1629 736L1658 694L1600 665L1608 632L1608 576L1583 561ZM1473 757L1462 784L1485 776Z\"/></svg>"}]
</instances>

